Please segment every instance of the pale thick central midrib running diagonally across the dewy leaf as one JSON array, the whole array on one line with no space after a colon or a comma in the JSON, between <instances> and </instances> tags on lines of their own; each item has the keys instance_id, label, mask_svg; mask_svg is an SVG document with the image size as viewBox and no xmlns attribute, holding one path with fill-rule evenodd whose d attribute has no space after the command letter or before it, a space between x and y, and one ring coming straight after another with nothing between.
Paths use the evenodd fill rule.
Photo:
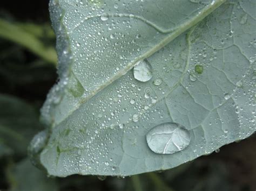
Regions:
<instances>
[{"instance_id":1,"label":"pale thick central midrib running diagonally across the dewy leaf","mask_svg":"<svg viewBox=\"0 0 256 191\"><path fill-rule=\"evenodd\" d=\"M167 44L169 44L172 40L176 39L180 34L190 29L192 26L199 23L201 20L203 20L206 16L210 15L215 9L217 9L221 4L226 2L226 0L215 0L210 5L207 5L203 10L201 10L198 15L194 16L190 20L188 20L185 23L182 23L179 27L177 27L177 30L173 31L169 35L167 35L166 38L160 41L159 44L155 45L153 48L151 48L146 53L142 54L138 58L134 59L132 62L129 62L125 68L120 70L116 75L113 75L109 80L107 80L105 83L103 83L101 86L98 86L95 90L91 91L91 93L85 98L85 100L90 100L92 97L94 97L96 94L98 94L100 91L102 91L104 88L109 86L112 82L118 80L120 77L125 75L129 70L131 70L134 65L140 61L144 60L146 58L149 58L149 56L153 55L159 49L163 48ZM85 102L86 103L86 102ZM80 105L84 103L79 103L76 108L74 108L66 117L64 117L61 121L59 121L56 124L53 124L53 126L57 126L61 122L63 122L66 118L71 116L73 112L75 112L78 108L80 108Z\"/></svg>"}]
</instances>

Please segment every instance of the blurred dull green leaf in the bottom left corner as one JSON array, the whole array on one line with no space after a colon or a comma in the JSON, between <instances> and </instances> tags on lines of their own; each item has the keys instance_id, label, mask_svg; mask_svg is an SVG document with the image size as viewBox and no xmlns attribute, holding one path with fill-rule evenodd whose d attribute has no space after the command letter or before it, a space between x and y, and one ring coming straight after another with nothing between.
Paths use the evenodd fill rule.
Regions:
<instances>
[{"instance_id":1,"label":"blurred dull green leaf in the bottom left corner","mask_svg":"<svg viewBox=\"0 0 256 191\"><path fill-rule=\"evenodd\" d=\"M10 191L58 190L56 181L35 168L29 159L24 159L9 169L8 178L11 184Z\"/></svg>"}]
</instances>

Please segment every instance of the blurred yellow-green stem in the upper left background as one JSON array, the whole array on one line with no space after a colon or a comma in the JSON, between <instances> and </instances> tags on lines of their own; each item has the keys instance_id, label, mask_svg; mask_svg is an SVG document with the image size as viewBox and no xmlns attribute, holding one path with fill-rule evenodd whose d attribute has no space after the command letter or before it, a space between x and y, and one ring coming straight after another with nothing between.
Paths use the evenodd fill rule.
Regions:
<instances>
[{"instance_id":1,"label":"blurred yellow-green stem in the upper left background","mask_svg":"<svg viewBox=\"0 0 256 191\"><path fill-rule=\"evenodd\" d=\"M35 35L22 29L22 27L0 19L0 38L10 40L29 49L43 60L57 65L55 48L45 47Z\"/></svg>"}]
</instances>

